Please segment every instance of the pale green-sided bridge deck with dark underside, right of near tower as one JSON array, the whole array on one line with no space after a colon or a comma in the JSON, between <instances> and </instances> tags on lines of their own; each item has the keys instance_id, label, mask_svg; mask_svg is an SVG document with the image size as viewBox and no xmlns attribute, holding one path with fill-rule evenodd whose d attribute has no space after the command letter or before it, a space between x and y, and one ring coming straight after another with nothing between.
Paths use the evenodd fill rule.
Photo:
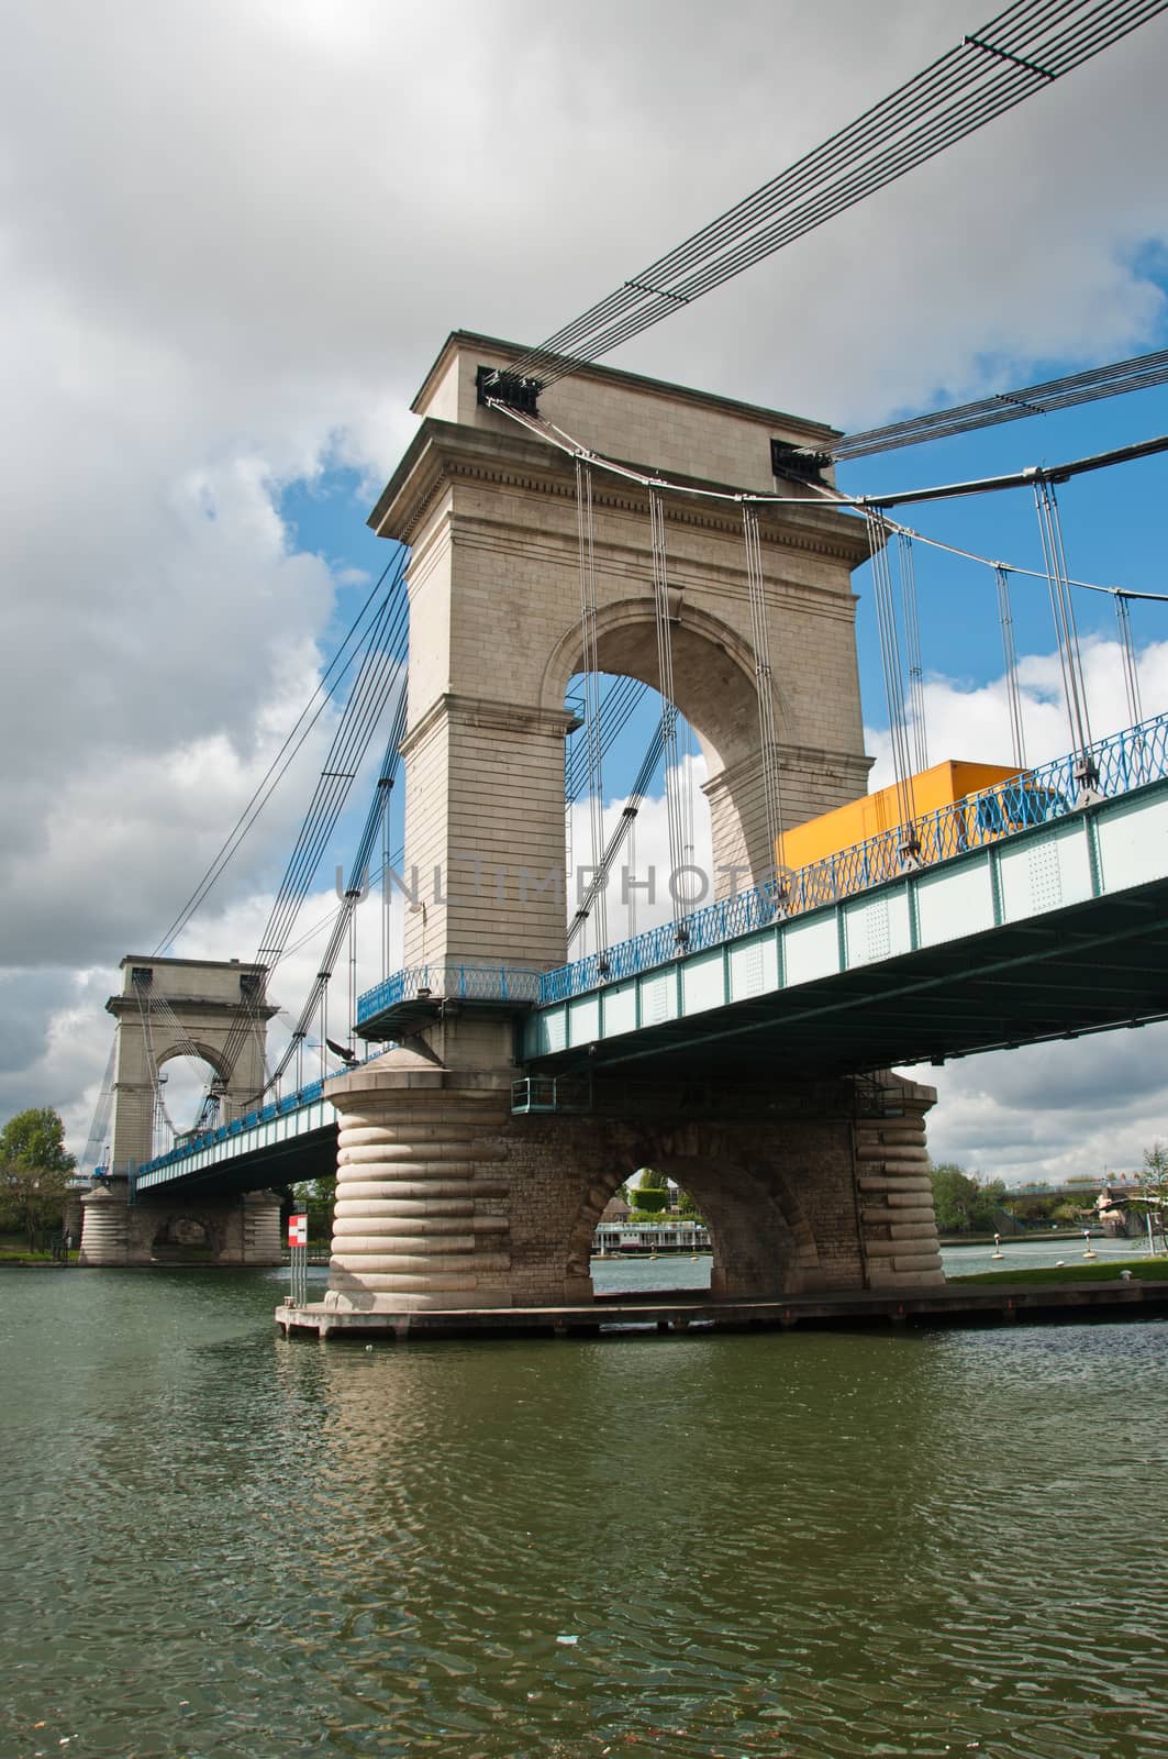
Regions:
<instances>
[{"instance_id":1,"label":"pale green-sided bridge deck with dark underside, right of near tower","mask_svg":"<svg viewBox=\"0 0 1168 1759\"><path fill-rule=\"evenodd\" d=\"M535 1010L535 1069L858 1073L1168 1015L1168 781Z\"/></svg>"}]
</instances>

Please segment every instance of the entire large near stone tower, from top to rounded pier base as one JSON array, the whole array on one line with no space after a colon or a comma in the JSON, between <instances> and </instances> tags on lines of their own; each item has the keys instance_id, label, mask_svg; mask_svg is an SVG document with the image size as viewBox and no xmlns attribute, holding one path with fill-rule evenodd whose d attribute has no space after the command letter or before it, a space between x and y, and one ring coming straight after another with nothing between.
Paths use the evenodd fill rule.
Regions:
<instances>
[{"instance_id":1,"label":"entire large near stone tower, from top to rounded pier base","mask_svg":"<svg viewBox=\"0 0 1168 1759\"><path fill-rule=\"evenodd\" d=\"M387 1033L406 1048L329 1089L341 1124L327 1298L334 1307L586 1298L580 1242L591 1238L605 1198L640 1164L630 1166L628 1156L647 1152L635 1147L635 1133L624 1140L598 1120L568 1129L561 1120L535 1128L512 1119L514 1015L447 996L454 966L538 971L566 957L563 890L551 881L565 867L565 690L586 663L575 464L549 436L484 405L484 369L507 368L519 352L466 332L447 339L413 405L419 431L369 519L382 536L412 547L403 756L406 874L419 902L406 915L405 959L422 976L413 1011ZM800 494L774 475L776 449L823 449L832 431L598 366L545 390L538 412L573 442L642 473L797 498L760 514L785 821L862 795L869 758L851 570L867 556L864 528L811 487ZM593 521L598 667L656 688L647 489L596 470ZM705 755L714 867L718 888L728 892L774 858L742 514L732 500L668 496L665 521L674 702ZM726 1215L716 1240L721 1293L864 1286L872 1258L881 1265L876 1281L939 1277L927 1168L922 1184L931 1091L908 1094L911 1084L888 1078L897 1128L887 1171L883 1156L871 1156L880 1117L860 1128L850 1089L834 1091L818 1122L788 1096L788 1122L772 1131L781 1152L767 1152L758 1124L774 1082L765 1077L744 1068L742 1091L723 1094L721 1117L691 1119L700 1145L690 1179L705 1193L704 1205L716 1208L719 1191L742 1203L755 1189L772 1217L760 1256L758 1238L751 1244L749 1228ZM684 1159L668 1135L683 1122L665 1099L654 1152ZM860 1138L869 1143L869 1184L883 1180L864 1203ZM911 1251L902 1240L897 1258L885 1224L888 1180L901 1177L908 1184L899 1201L920 1235ZM869 1230L881 1240L876 1254L867 1252L862 1219L872 1203L883 1215Z\"/></svg>"}]
</instances>

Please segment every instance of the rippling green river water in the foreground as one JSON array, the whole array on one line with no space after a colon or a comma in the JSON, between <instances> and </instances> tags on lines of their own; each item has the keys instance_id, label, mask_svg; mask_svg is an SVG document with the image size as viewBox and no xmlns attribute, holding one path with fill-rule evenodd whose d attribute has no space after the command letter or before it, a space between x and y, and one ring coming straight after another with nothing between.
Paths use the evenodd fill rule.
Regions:
<instances>
[{"instance_id":1,"label":"rippling green river water in the foreground","mask_svg":"<svg viewBox=\"0 0 1168 1759\"><path fill-rule=\"evenodd\" d=\"M4 1759L1168 1754L1164 1323L366 1349L281 1293L0 1279Z\"/></svg>"}]
</instances>

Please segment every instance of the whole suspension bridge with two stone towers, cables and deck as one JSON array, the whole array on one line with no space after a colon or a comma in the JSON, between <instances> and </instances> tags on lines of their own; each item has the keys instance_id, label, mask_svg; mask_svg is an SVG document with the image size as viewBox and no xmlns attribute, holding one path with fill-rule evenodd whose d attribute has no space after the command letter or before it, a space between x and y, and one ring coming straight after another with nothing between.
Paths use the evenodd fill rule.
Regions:
<instances>
[{"instance_id":1,"label":"whole suspension bridge with two stone towers, cables and deck","mask_svg":"<svg viewBox=\"0 0 1168 1759\"><path fill-rule=\"evenodd\" d=\"M1057 500L1168 438L874 501L839 491L836 459L931 438L927 420L843 436L598 359L1159 11L1020 0L542 348L447 339L369 517L391 545L383 575L167 936L123 962L88 1263L150 1261L183 1238L220 1261L271 1259L271 1187L336 1170L329 1291L306 1325L579 1303L600 1212L653 1164L709 1224L714 1296L943 1281L936 1096L890 1068L1168 1013L1168 714L1145 712L1129 623L1129 602L1157 595L1075 579ZM1057 408L1164 376L1168 355L1026 389ZM1027 398L996 401L932 427L1020 417ZM1033 498L1066 712L1054 762L1027 762L1011 584L1031 570L964 552L994 586L1013 762L931 763L916 554L936 540L894 507L957 493ZM894 770L874 795L862 566ZM1129 725L1105 735L1084 591L1115 603ZM350 672L255 959L171 957ZM607 821L614 742L649 704L647 749ZM273 1057L269 983L369 753L373 799L327 946ZM663 872L637 850L658 777ZM382 974L359 992L357 909L378 865ZM610 932L617 911L624 934ZM164 1092L179 1055L213 1069L185 1133ZM100 1135L99 1117L91 1164Z\"/></svg>"}]
</instances>

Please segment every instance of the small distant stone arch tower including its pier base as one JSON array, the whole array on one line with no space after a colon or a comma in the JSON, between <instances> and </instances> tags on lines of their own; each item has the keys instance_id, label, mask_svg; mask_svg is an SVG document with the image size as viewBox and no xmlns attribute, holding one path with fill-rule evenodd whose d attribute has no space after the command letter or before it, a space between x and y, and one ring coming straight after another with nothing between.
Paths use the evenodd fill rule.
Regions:
<instances>
[{"instance_id":1,"label":"small distant stone arch tower including its pier base","mask_svg":"<svg viewBox=\"0 0 1168 1759\"><path fill-rule=\"evenodd\" d=\"M181 1256L186 1240L216 1263L280 1263L280 1200L130 1203L132 1173L151 1159L155 1077L172 1057L211 1066L218 1122L259 1103L264 1043L276 1010L266 999L267 969L237 959L121 960L121 992L106 1011L116 1020L109 1179L83 1198L81 1263L153 1263L155 1247Z\"/></svg>"}]
</instances>

